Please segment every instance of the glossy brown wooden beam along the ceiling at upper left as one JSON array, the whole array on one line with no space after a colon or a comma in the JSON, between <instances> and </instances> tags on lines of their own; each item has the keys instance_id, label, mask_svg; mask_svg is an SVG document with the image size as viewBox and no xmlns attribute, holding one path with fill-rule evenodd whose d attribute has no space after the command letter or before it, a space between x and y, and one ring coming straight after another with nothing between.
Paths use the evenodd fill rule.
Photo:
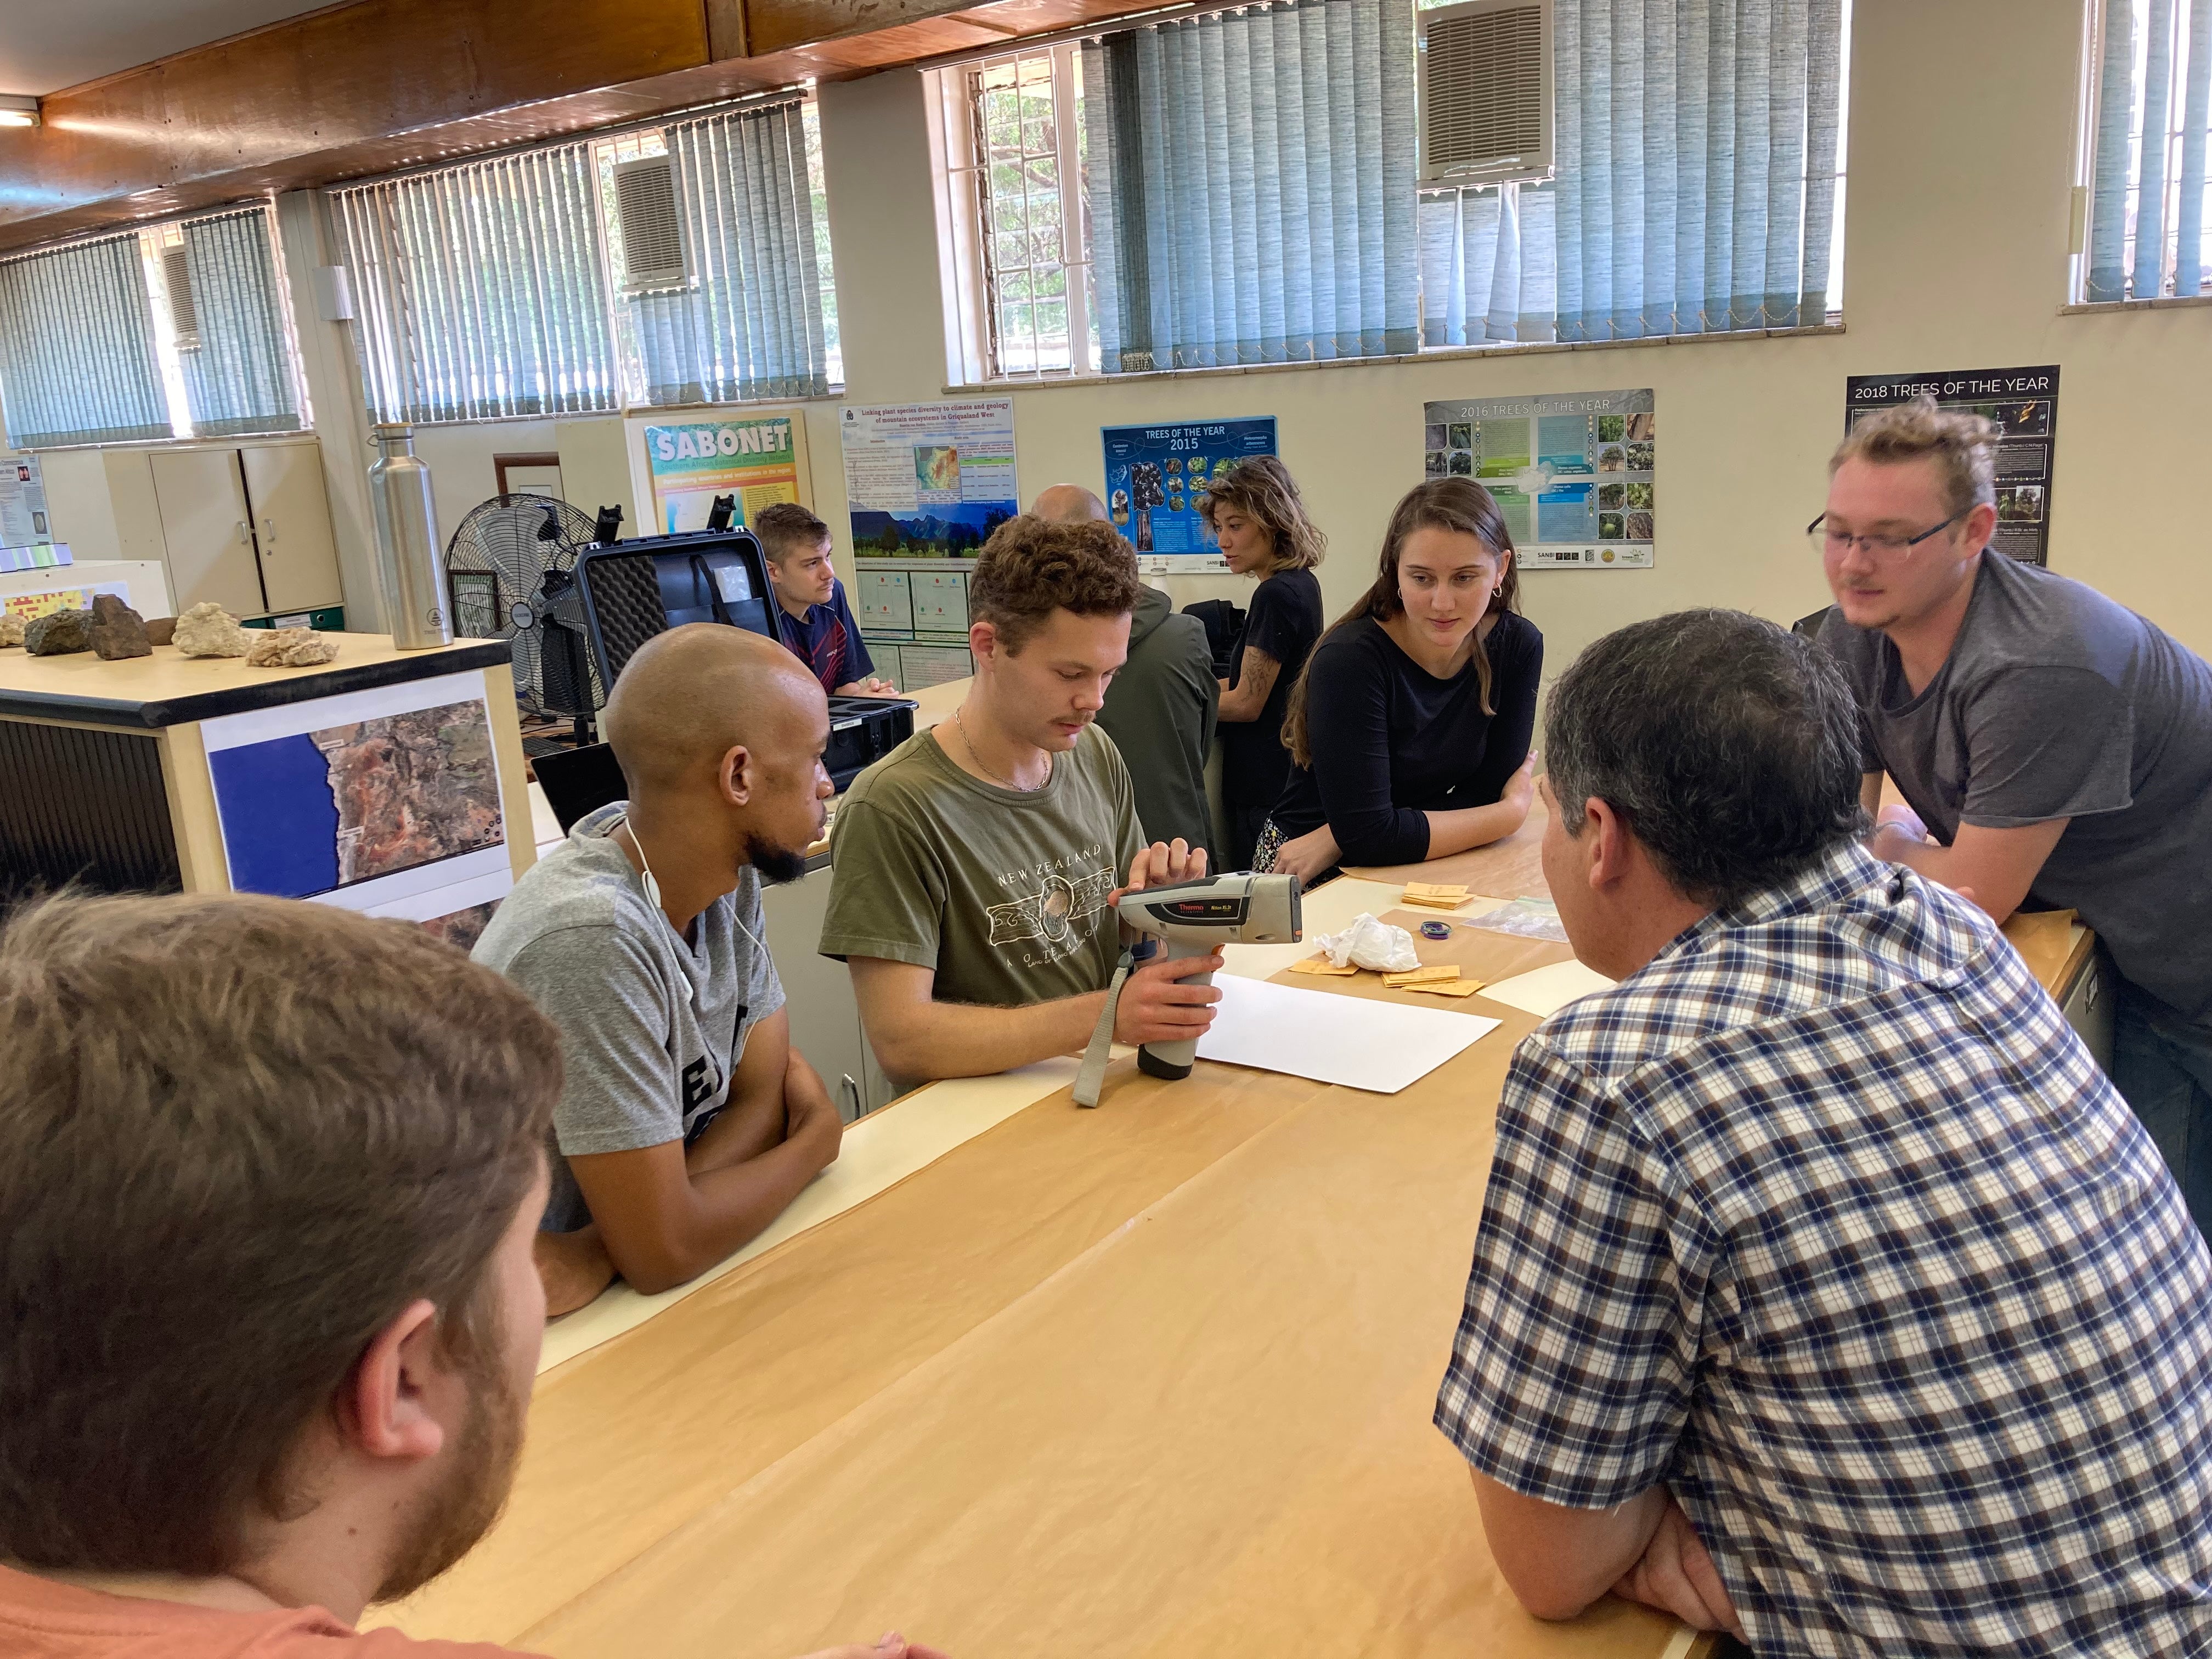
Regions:
<instances>
[{"instance_id":1,"label":"glossy brown wooden beam along the ceiling at upper left","mask_svg":"<svg viewBox=\"0 0 2212 1659\"><path fill-rule=\"evenodd\" d=\"M0 252L849 80L1159 0L354 0L0 128Z\"/></svg>"}]
</instances>

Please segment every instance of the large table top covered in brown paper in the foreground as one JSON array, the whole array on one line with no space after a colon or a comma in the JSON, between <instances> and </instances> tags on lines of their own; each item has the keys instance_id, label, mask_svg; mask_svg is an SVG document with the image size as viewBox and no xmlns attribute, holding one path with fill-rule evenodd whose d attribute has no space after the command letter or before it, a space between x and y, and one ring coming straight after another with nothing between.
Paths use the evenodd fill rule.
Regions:
<instances>
[{"instance_id":1,"label":"large table top covered in brown paper in the foreground","mask_svg":"<svg viewBox=\"0 0 2212 1659\"><path fill-rule=\"evenodd\" d=\"M1391 898L1340 883L1310 927ZM1394 1097L1117 1062L1099 1110L1062 1088L560 1365L504 1522L392 1619L562 1659L1699 1652L1617 1601L1526 1617L1429 1425L1535 1020L1425 1006L1504 1024Z\"/></svg>"}]
</instances>

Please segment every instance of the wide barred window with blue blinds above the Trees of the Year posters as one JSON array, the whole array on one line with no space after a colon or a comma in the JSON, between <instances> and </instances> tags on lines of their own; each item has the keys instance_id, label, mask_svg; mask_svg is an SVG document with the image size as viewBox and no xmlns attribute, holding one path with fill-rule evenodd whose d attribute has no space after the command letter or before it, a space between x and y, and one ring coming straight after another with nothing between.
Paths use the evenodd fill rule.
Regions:
<instances>
[{"instance_id":1,"label":"wide barred window with blue blinds above the Trees of the Year posters","mask_svg":"<svg viewBox=\"0 0 2212 1659\"><path fill-rule=\"evenodd\" d=\"M958 372L1840 312L1851 0L1548 0L1551 168L1462 188L1420 184L1413 4L1281 0L936 71Z\"/></svg>"}]
</instances>

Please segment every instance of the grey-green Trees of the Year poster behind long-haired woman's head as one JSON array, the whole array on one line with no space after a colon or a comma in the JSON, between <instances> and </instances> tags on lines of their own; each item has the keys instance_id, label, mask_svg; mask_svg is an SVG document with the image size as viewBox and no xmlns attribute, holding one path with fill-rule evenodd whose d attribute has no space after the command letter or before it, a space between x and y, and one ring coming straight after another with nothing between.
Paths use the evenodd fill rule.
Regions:
<instances>
[{"instance_id":1,"label":"grey-green Trees of the Year poster behind long-haired woman's head","mask_svg":"<svg viewBox=\"0 0 2212 1659\"><path fill-rule=\"evenodd\" d=\"M1524 571L1648 571L1659 524L1652 389L1422 409L1429 478L1475 478Z\"/></svg>"}]
</instances>

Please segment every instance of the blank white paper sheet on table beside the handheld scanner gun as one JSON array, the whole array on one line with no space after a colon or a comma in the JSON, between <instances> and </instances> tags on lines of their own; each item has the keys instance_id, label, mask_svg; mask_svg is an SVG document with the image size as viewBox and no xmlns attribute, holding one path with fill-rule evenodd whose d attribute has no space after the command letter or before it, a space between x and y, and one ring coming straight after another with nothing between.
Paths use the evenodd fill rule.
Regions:
<instances>
[{"instance_id":1,"label":"blank white paper sheet on table beside the handheld scanner gun","mask_svg":"<svg viewBox=\"0 0 2212 1659\"><path fill-rule=\"evenodd\" d=\"M1217 973L1214 987L1221 1002L1212 1029L1199 1037L1199 1060L1378 1095L1420 1082L1502 1024L1480 1013L1298 991L1230 973Z\"/></svg>"}]
</instances>

